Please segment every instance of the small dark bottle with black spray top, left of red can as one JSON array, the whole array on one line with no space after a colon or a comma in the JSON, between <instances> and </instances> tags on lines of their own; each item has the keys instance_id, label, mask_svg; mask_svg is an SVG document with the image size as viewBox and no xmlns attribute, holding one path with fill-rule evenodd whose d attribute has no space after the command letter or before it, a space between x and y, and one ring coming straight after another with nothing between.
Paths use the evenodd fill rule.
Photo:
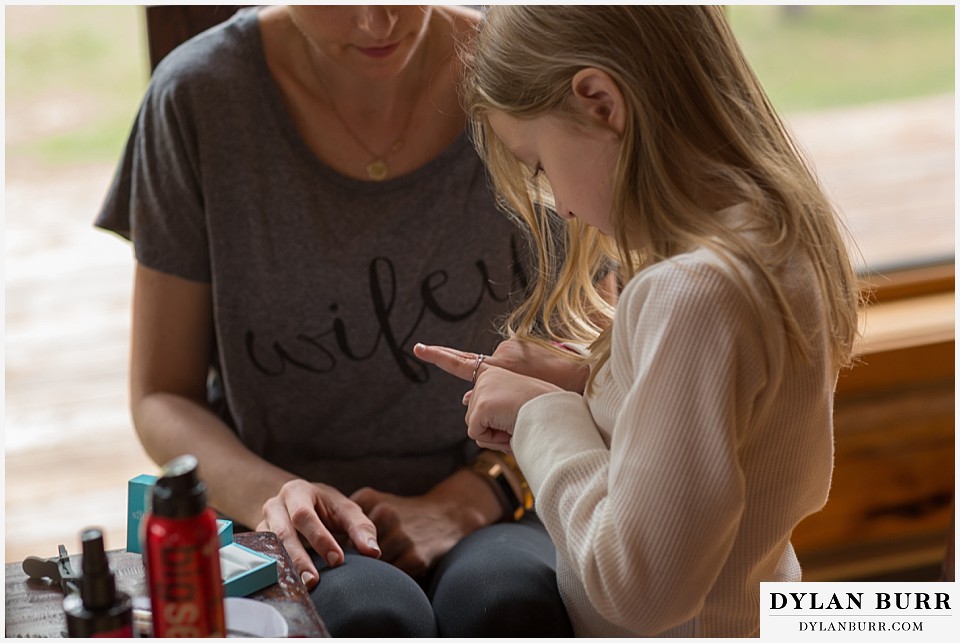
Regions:
<instances>
[{"instance_id":1,"label":"small dark bottle with black spray top, left of red can","mask_svg":"<svg viewBox=\"0 0 960 643\"><path fill-rule=\"evenodd\" d=\"M117 591L116 578L103 548L103 532L96 528L80 533L83 544L80 593L63 599L67 635L72 638L132 638L133 603Z\"/></svg>"}]
</instances>

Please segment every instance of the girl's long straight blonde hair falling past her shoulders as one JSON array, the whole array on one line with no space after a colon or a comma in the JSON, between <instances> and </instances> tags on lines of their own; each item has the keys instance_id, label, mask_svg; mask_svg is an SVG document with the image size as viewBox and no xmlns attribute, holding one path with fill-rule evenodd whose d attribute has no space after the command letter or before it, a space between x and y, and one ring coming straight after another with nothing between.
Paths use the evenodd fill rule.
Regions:
<instances>
[{"instance_id":1,"label":"girl's long straight blonde hair falling past her shoulders","mask_svg":"<svg viewBox=\"0 0 960 643\"><path fill-rule=\"evenodd\" d=\"M755 302L758 314L779 321L789 350L809 358L809 338L776 277L799 248L816 270L830 359L838 369L851 362L860 295L837 214L721 8L496 6L464 58L474 143L504 209L537 249L540 278L507 318L505 334L590 344L595 375L609 357L613 315L597 287L603 271L617 266L626 283L649 265L708 246L764 275L774 306ZM487 120L491 110L573 118L571 80L586 67L609 74L626 107L612 238L552 216L548 186L531 180ZM708 209L696 197L705 190L724 195L727 205L747 204L761 243Z\"/></svg>"}]
</instances>

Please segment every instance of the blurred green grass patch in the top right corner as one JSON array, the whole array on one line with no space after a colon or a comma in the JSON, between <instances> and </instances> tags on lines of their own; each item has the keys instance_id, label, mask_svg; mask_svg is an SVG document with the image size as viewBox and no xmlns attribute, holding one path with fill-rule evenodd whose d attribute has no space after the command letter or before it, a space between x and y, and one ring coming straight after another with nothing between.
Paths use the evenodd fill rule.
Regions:
<instances>
[{"instance_id":1,"label":"blurred green grass patch in the top right corner","mask_svg":"<svg viewBox=\"0 0 960 643\"><path fill-rule=\"evenodd\" d=\"M783 112L954 89L952 5L740 5L728 16Z\"/></svg>"}]
</instances>

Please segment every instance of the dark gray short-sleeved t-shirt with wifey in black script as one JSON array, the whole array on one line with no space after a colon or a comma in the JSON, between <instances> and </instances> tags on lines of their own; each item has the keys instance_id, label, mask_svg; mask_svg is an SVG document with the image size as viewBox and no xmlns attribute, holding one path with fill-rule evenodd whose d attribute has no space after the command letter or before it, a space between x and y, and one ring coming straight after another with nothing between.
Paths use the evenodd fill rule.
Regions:
<instances>
[{"instance_id":1,"label":"dark gray short-sleeved t-shirt with wifey in black script","mask_svg":"<svg viewBox=\"0 0 960 643\"><path fill-rule=\"evenodd\" d=\"M466 135L382 183L300 137L253 10L157 67L96 225L152 269L209 283L240 439L350 493L422 493L474 452L469 385L414 343L490 352L523 283L514 226Z\"/></svg>"}]
</instances>

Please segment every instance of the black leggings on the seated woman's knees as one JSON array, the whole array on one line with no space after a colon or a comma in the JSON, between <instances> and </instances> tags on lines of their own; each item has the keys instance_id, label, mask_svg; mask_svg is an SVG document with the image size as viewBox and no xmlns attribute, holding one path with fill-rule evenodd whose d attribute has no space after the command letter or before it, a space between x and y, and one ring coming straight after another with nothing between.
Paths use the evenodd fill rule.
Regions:
<instances>
[{"instance_id":1,"label":"black leggings on the seated woman's knees","mask_svg":"<svg viewBox=\"0 0 960 643\"><path fill-rule=\"evenodd\" d=\"M418 583L393 565L346 552L326 567L313 603L334 637L568 637L556 550L527 514L460 541Z\"/></svg>"}]
</instances>

